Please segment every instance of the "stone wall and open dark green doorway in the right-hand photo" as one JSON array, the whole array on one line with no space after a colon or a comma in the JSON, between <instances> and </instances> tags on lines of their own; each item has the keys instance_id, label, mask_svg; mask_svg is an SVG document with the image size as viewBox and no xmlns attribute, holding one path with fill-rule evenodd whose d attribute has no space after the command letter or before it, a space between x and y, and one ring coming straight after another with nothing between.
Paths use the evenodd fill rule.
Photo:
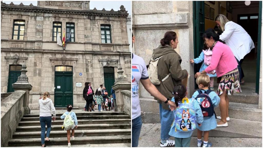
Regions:
<instances>
[{"instance_id":1,"label":"stone wall and open dark green doorway in the right-hand photo","mask_svg":"<svg viewBox=\"0 0 263 148\"><path fill-rule=\"evenodd\" d=\"M198 65L190 64L189 59L197 58L202 52L204 43L202 33L205 29L215 27L215 17L218 14L224 14L230 21L235 23L239 23L238 19L240 17L241 19L258 18L258 22L253 23L255 27L250 28L254 29L254 33L259 35L253 40L256 48L245 57L242 63L246 84L241 86L242 93L240 95L230 96L229 98L234 103L252 103L258 105L255 110L262 109L262 50L260 50L260 47L262 47L262 38L260 38L262 36L262 3L251 1L250 6L246 6L244 2L229 2L133 1L132 31L135 36L135 43L132 52L142 57L147 64L152 57L153 49L160 45L160 40L164 37L165 32L176 32L179 43L175 51L182 58L182 69L187 70L190 74L187 90L188 97L191 97L196 84L194 75L199 71L200 65L198 67ZM242 26L241 23L240 25ZM256 32L255 29L257 30L257 28L259 30ZM247 32L249 33L249 31ZM250 36L252 37L252 34ZM217 83L214 85L215 87L218 86ZM160 122L159 110L156 109L159 108L157 101L153 100L153 97L141 84L139 92L143 122ZM245 100L250 101L246 102Z\"/></svg>"}]
</instances>

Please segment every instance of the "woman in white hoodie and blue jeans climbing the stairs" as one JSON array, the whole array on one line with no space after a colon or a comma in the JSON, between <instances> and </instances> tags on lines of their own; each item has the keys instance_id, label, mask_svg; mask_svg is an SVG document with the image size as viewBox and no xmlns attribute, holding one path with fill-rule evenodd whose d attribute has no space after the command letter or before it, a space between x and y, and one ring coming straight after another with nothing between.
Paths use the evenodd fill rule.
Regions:
<instances>
[{"instance_id":1,"label":"woman in white hoodie and blue jeans climbing the stairs","mask_svg":"<svg viewBox=\"0 0 263 148\"><path fill-rule=\"evenodd\" d=\"M43 98L40 97L40 100L38 101L40 112L39 112L39 120L41 124L41 144L42 147L46 147L45 142L50 142L49 134L51 131L51 115L53 114L53 121L56 119L56 110L53 105L53 102L51 99L49 99L50 95L49 92L44 92ZM47 123L47 137L45 140L45 126Z\"/></svg>"}]
</instances>

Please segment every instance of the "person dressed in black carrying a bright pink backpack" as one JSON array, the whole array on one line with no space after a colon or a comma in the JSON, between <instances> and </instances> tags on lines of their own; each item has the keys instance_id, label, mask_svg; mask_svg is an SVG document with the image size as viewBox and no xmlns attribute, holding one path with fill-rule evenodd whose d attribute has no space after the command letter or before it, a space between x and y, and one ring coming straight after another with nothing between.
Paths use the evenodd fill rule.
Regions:
<instances>
[{"instance_id":1,"label":"person dressed in black carrying a bright pink backpack","mask_svg":"<svg viewBox=\"0 0 263 148\"><path fill-rule=\"evenodd\" d=\"M86 107L88 109L89 107L89 111L91 111L91 107L92 107L92 102L93 102L93 94L94 91L91 87L91 82L85 82L85 87L83 89L83 98L84 100L86 100Z\"/></svg>"}]
</instances>

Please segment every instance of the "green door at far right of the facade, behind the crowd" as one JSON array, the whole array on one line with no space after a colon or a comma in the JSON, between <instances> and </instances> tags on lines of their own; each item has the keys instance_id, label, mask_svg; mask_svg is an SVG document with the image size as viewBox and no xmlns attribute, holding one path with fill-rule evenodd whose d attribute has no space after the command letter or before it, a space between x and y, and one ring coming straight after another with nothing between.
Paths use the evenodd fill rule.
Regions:
<instances>
[{"instance_id":1,"label":"green door at far right of the facade, behind the crowd","mask_svg":"<svg viewBox=\"0 0 263 148\"><path fill-rule=\"evenodd\" d=\"M108 91L108 96L111 95L112 86L114 85L114 68L113 67L104 67L104 86Z\"/></svg>"}]
</instances>

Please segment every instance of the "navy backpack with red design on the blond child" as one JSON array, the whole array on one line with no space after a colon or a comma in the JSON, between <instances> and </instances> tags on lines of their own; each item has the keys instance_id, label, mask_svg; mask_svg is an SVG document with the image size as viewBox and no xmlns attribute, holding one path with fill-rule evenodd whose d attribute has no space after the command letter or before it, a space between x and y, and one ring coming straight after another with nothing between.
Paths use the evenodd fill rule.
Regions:
<instances>
[{"instance_id":1,"label":"navy backpack with red design on the blond child","mask_svg":"<svg viewBox=\"0 0 263 148\"><path fill-rule=\"evenodd\" d=\"M199 103L201 107L204 117L211 117L215 114L214 105L212 103L211 98L208 95L210 92L212 92L212 90L207 90L204 93L201 90L199 90L199 95L195 97L195 100Z\"/></svg>"}]
</instances>

